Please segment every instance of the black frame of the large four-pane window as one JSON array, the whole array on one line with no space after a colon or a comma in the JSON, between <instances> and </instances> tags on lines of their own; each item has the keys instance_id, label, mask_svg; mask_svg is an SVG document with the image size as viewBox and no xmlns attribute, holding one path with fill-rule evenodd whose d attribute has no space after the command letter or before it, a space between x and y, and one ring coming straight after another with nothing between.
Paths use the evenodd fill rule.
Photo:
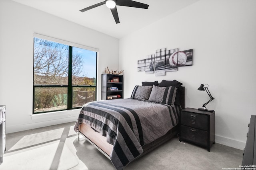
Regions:
<instances>
[{"instance_id":1,"label":"black frame of the large four-pane window","mask_svg":"<svg viewBox=\"0 0 256 170\"><path fill-rule=\"evenodd\" d=\"M40 38L40 37L36 37L36 38ZM44 38L40 38L40 39L44 39ZM35 37L34 37L35 40ZM46 39L47 40L47 39ZM52 40L47 40L47 41L52 41ZM58 42L57 42L58 43ZM33 41L34 44L34 41ZM63 44L63 43L62 43ZM84 45L83 45L84 46ZM34 45L33 45L34 47ZM40 113L50 113L50 112L56 112L56 111L65 111L65 110L72 110L72 109L79 109L80 107L72 107L73 106L73 88L74 87L90 87L90 88L95 88L95 101L97 100L97 82L98 82L98 78L97 78L97 63L98 63L98 51L94 51L96 52L96 77L95 77L95 85L72 85L72 47L76 47L76 46L72 46L72 45L68 45L68 85L48 85L48 84L44 84L44 85L39 85L39 84L34 84L34 66L33 66L33 108L32 108L32 114L40 114ZM81 47L78 47L81 48ZM81 48L82 49L82 48ZM84 48L86 49L86 48ZM90 50L90 49L86 49L86 50ZM33 49L34 51L34 49ZM90 50L93 51L93 50ZM34 53L33 53L33 64L34 64ZM68 94L67 94L67 109L59 109L59 110L51 110L51 111L41 111L41 112L34 112L35 110L35 88L46 88L46 87L59 87L59 88L67 88L68 90Z\"/></svg>"}]
</instances>

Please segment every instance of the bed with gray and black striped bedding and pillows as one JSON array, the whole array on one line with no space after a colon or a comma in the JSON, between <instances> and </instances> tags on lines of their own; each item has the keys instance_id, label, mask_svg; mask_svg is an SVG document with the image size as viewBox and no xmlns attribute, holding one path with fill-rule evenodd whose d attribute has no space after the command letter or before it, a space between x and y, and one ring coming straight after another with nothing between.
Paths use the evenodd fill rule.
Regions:
<instances>
[{"instance_id":1,"label":"bed with gray and black striped bedding and pillows","mask_svg":"<svg viewBox=\"0 0 256 170\"><path fill-rule=\"evenodd\" d=\"M87 103L74 130L122 170L176 136L180 109L184 108L181 85L176 80L142 82L130 98Z\"/></svg>"}]
</instances>

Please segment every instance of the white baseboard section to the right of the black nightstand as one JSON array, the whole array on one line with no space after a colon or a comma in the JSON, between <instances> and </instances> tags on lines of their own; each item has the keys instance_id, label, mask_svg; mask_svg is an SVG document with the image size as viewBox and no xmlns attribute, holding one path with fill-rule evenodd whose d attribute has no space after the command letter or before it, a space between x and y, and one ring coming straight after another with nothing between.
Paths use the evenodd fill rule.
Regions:
<instances>
[{"instance_id":1,"label":"white baseboard section to the right of the black nightstand","mask_svg":"<svg viewBox=\"0 0 256 170\"><path fill-rule=\"evenodd\" d=\"M236 141L234 139L230 139L230 138L226 138L218 135L215 135L215 142L222 145L226 145L228 147L240 149L240 150L243 150L246 144L245 142L242 142L242 141Z\"/></svg>"}]
</instances>

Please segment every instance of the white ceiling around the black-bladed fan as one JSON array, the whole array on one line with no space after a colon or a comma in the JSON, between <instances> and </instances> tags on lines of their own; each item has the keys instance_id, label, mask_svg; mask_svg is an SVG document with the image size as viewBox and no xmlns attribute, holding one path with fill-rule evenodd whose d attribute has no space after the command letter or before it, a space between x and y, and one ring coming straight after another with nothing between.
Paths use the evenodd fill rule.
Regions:
<instances>
[{"instance_id":1,"label":"white ceiling around the black-bladed fan","mask_svg":"<svg viewBox=\"0 0 256 170\"><path fill-rule=\"evenodd\" d=\"M86 12L79 10L104 0L13 0L43 12L78 23L112 37L122 38L146 25L150 25L198 0L134 0L148 4L148 9L117 6L120 23L116 24L106 5Z\"/></svg>"}]
</instances>

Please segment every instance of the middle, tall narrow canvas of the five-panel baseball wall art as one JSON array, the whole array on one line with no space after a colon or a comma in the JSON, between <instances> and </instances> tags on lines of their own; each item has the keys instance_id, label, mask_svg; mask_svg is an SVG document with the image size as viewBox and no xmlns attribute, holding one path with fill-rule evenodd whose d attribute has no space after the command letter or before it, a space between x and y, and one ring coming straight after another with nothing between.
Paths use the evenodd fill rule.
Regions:
<instances>
[{"instance_id":1,"label":"middle, tall narrow canvas of the five-panel baseball wall art","mask_svg":"<svg viewBox=\"0 0 256 170\"><path fill-rule=\"evenodd\" d=\"M165 75L165 52L166 48L156 50L155 76Z\"/></svg>"}]
</instances>

